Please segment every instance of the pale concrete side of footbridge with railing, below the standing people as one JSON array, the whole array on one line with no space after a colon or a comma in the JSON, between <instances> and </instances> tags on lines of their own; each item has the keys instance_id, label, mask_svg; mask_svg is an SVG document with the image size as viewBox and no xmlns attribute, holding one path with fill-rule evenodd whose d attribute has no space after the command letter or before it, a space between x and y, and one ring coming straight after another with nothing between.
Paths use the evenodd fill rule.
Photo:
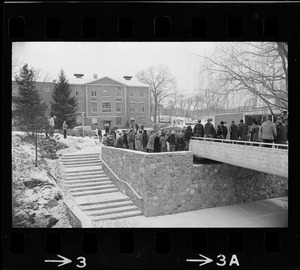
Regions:
<instances>
[{"instance_id":1,"label":"pale concrete side of footbridge with railing, below the standing people","mask_svg":"<svg viewBox=\"0 0 300 270\"><path fill-rule=\"evenodd\" d=\"M200 157L288 177L288 145L192 137L189 150Z\"/></svg>"}]
</instances>

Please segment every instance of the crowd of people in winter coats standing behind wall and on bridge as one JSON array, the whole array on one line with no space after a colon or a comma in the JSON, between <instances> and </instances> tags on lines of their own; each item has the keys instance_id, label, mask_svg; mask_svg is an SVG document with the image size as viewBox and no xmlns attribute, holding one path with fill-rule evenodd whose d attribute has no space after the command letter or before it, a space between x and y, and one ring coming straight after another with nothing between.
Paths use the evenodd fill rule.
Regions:
<instances>
[{"instance_id":1,"label":"crowd of people in winter coats standing behind wall and on bridge","mask_svg":"<svg viewBox=\"0 0 300 270\"><path fill-rule=\"evenodd\" d=\"M264 147L272 147L273 143L287 144L287 126L284 119L279 118L273 123L271 116L258 125L254 119L251 126L247 126L243 120L237 125L235 121L227 124L221 121L217 127L212 124L212 119L207 119L203 125L201 120L192 129L187 126L183 129L175 127L167 129L146 130L144 127L118 131L117 129L106 129L105 134L99 135L103 145L116 148L125 148L144 152L174 152L188 151L192 137L216 138L224 143L244 144L245 141L253 142L253 146L259 146L257 142L263 142ZM286 149L286 147L278 147Z\"/></svg>"}]
</instances>

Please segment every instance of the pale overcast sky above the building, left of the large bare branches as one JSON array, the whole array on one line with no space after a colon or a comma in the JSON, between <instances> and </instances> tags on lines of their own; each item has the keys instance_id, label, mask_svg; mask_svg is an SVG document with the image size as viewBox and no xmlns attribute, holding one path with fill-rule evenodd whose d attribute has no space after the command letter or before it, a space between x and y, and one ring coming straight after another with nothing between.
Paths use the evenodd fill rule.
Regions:
<instances>
[{"instance_id":1,"label":"pale overcast sky above the building, left of the large bare branches","mask_svg":"<svg viewBox=\"0 0 300 270\"><path fill-rule=\"evenodd\" d=\"M68 78L75 73L93 79L108 76L120 79L134 76L150 66L169 67L178 88L195 89L199 58L194 54L210 54L215 43L209 42L15 42L12 60L57 78L61 68Z\"/></svg>"}]
</instances>

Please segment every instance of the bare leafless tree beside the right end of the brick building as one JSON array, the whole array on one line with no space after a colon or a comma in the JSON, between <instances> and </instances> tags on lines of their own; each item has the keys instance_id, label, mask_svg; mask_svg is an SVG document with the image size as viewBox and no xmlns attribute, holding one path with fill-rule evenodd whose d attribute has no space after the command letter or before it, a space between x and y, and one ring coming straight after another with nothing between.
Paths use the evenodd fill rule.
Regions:
<instances>
[{"instance_id":1,"label":"bare leafless tree beside the right end of the brick building","mask_svg":"<svg viewBox=\"0 0 300 270\"><path fill-rule=\"evenodd\" d=\"M154 104L154 124L156 125L158 105L175 89L175 78L171 75L169 68L163 65L142 70L136 74L136 77L140 82L150 86Z\"/></svg>"}]
</instances>

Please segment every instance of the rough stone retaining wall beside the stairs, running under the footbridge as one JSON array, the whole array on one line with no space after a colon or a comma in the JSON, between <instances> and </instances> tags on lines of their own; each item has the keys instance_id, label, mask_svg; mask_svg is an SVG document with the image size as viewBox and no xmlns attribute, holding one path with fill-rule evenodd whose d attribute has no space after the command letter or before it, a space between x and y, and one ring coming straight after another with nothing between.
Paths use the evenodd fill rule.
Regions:
<instances>
[{"instance_id":1,"label":"rough stone retaining wall beside the stairs, running under the footbridge","mask_svg":"<svg viewBox=\"0 0 300 270\"><path fill-rule=\"evenodd\" d=\"M193 165L189 151L103 146L102 159L143 197L141 210L148 217L280 197L287 188L287 178L280 176L228 164Z\"/></svg>"}]
</instances>

